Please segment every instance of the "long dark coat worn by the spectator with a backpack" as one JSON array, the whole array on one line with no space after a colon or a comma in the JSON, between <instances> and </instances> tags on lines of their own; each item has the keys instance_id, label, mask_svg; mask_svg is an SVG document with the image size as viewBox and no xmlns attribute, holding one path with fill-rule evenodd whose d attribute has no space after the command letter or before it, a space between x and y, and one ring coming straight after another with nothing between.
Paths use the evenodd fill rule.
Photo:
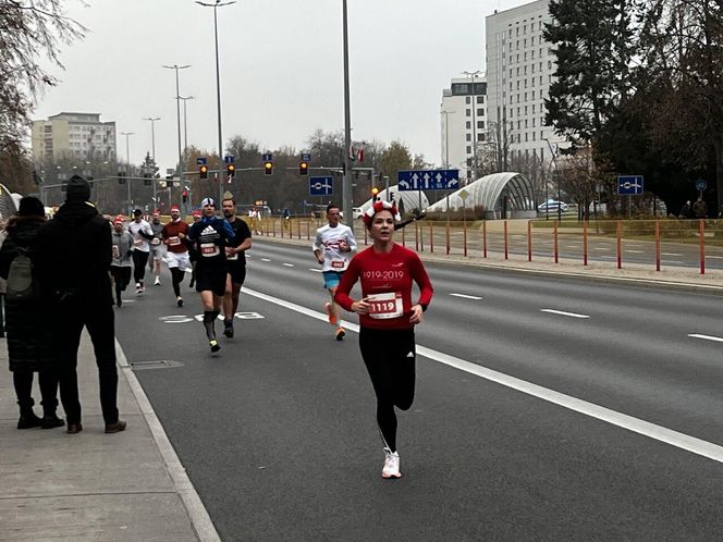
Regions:
<instances>
[{"instance_id":1,"label":"long dark coat worn by the spectator with a backpack","mask_svg":"<svg viewBox=\"0 0 723 542\"><path fill-rule=\"evenodd\" d=\"M8 279L10 264L21 249L36 268L37 236L45 226L42 217L12 217L5 231L8 237L0 248L0 276ZM47 327L39 324L41 299L26 301L5 301L5 331L8 333L8 357L10 370L38 371L52 365L51 341Z\"/></svg>"}]
</instances>

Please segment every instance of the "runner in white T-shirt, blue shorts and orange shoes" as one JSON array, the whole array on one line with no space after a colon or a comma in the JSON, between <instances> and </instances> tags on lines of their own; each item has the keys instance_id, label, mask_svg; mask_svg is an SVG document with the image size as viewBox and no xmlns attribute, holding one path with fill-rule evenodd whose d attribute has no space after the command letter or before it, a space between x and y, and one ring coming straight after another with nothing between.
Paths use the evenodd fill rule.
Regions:
<instances>
[{"instance_id":1,"label":"runner in white T-shirt, blue shorts and orange shoes","mask_svg":"<svg viewBox=\"0 0 723 542\"><path fill-rule=\"evenodd\" d=\"M319 227L314 239L314 256L321 263L323 273L323 287L329 291L331 301L324 304L329 323L334 327L334 337L342 341L346 332L339 325L339 305L334 301L336 286L342 273L348 266L348 260L356 251L356 239L352 229L339 222L340 211L334 204L327 206L327 220L329 224Z\"/></svg>"}]
</instances>

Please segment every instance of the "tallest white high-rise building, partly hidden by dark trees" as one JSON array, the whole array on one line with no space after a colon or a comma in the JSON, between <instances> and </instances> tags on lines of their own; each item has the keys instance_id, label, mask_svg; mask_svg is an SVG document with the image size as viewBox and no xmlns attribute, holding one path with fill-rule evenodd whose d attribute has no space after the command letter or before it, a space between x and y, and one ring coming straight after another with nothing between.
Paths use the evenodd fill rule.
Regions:
<instances>
[{"instance_id":1,"label":"tallest white high-rise building, partly hidden by dark trees","mask_svg":"<svg viewBox=\"0 0 723 542\"><path fill-rule=\"evenodd\" d=\"M544 124L544 99L555 71L552 48L542 37L551 21L548 0L495 12L486 19L488 121L511 158L550 159L567 146Z\"/></svg>"}]
</instances>

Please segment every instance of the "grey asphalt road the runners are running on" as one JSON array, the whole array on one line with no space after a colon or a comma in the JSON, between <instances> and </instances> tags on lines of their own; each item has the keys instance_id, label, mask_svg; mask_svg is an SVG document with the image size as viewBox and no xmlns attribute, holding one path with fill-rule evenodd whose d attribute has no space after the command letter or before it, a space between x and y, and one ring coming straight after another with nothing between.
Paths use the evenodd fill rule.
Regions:
<instances>
[{"instance_id":1,"label":"grey asphalt road the runners are running on","mask_svg":"<svg viewBox=\"0 0 723 542\"><path fill-rule=\"evenodd\" d=\"M166 270L117 312L131 362L182 364L136 374L224 540L721 538L723 298L428 266L389 482L310 248L249 255L219 356Z\"/></svg>"}]
</instances>

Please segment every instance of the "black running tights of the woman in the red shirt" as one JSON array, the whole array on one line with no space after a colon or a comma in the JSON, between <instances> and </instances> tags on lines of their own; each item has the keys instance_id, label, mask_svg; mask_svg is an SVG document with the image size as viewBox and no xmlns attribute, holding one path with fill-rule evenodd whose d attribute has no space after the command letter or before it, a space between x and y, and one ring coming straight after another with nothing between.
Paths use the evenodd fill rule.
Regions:
<instances>
[{"instance_id":1,"label":"black running tights of the woman in the red shirt","mask_svg":"<svg viewBox=\"0 0 723 542\"><path fill-rule=\"evenodd\" d=\"M359 330L359 348L377 394L377 423L384 444L396 451L394 407L408 410L414 402L414 330Z\"/></svg>"}]
</instances>

